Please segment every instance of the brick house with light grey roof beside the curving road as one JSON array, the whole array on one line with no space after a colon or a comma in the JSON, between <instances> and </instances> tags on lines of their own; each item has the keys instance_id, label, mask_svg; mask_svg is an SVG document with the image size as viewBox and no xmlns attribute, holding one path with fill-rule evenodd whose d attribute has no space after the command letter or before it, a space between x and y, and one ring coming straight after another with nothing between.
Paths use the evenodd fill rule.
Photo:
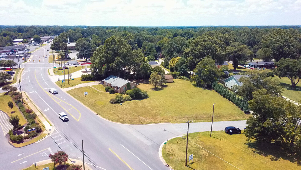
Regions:
<instances>
[{"instance_id":1,"label":"brick house with light grey roof beside the curving road","mask_svg":"<svg viewBox=\"0 0 301 170\"><path fill-rule=\"evenodd\" d=\"M110 86L112 87L115 92L122 93L129 89L127 89L127 84L130 83L131 89L137 87L136 83L133 83L131 81L121 79L120 77L117 77L115 75L110 75L109 77L102 80L103 81L103 87Z\"/></svg>"}]
</instances>

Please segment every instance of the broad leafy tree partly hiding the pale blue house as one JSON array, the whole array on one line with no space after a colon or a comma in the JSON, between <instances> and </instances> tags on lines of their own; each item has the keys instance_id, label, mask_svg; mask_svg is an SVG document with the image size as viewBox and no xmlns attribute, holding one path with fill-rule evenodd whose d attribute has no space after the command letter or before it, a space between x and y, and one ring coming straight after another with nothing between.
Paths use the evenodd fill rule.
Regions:
<instances>
[{"instance_id":1,"label":"broad leafy tree partly hiding the pale blue house","mask_svg":"<svg viewBox=\"0 0 301 170\"><path fill-rule=\"evenodd\" d=\"M270 95L279 96L282 92L282 87L279 86L279 81L272 77L267 77L267 71L252 70L248 71L248 76L243 76L239 79L243 83L242 86L234 87L233 91L244 99L253 99L252 93L259 89L266 89Z\"/></svg>"}]
</instances>

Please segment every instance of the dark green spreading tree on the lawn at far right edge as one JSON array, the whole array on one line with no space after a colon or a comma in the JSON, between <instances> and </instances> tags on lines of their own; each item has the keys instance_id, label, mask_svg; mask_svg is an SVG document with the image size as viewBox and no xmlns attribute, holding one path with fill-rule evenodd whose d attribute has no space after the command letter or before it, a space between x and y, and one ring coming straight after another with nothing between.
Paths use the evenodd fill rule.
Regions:
<instances>
[{"instance_id":1,"label":"dark green spreading tree on the lawn at far right edge","mask_svg":"<svg viewBox=\"0 0 301 170\"><path fill-rule=\"evenodd\" d=\"M275 66L277 66L277 68L274 69L273 73L278 75L279 78L289 78L291 80L292 87L296 87L301 79L301 59L292 60L289 58L282 58L275 63Z\"/></svg>"}]
</instances>

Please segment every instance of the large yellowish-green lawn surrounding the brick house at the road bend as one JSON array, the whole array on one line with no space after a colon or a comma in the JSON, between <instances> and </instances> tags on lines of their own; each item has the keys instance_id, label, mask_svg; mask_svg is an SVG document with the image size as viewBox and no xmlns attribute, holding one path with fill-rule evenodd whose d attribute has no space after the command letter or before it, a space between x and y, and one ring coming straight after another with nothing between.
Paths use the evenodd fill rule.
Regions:
<instances>
[{"instance_id":1,"label":"large yellowish-green lawn surrounding the brick house at the road bend","mask_svg":"<svg viewBox=\"0 0 301 170\"><path fill-rule=\"evenodd\" d=\"M115 94L106 93L102 85L93 87L102 92L91 87L80 87L67 92L103 118L115 122L183 123L190 119L194 122L209 122L214 102L214 121L246 120L249 117L217 92L195 87L189 81L180 79L174 79L174 83L167 83L166 87L157 91L152 90L153 87L148 83L140 83L138 87L146 90L149 98L126 101L122 106L109 103ZM85 91L88 91L86 97L83 96ZM139 115L147 120L141 118L139 122Z\"/></svg>"}]
</instances>

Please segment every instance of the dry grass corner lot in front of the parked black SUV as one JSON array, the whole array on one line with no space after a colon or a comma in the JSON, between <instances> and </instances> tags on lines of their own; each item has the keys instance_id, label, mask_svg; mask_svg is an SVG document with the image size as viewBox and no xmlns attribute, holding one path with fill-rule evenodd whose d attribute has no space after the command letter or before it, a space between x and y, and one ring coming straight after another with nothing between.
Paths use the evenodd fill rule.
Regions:
<instances>
[{"instance_id":1,"label":"dry grass corner lot in front of the parked black SUV","mask_svg":"<svg viewBox=\"0 0 301 170\"><path fill-rule=\"evenodd\" d=\"M193 163L188 164L187 160L189 167L185 166L186 139L181 137L173 138L163 146L164 160L175 170L300 169L300 157L287 156L275 145L258 147L255 143L247 142L243 134L228 135L224 131L212 133L212 137L210 132L189 133L188 155L193 154Z\"/></svg>"}]
</instances>

